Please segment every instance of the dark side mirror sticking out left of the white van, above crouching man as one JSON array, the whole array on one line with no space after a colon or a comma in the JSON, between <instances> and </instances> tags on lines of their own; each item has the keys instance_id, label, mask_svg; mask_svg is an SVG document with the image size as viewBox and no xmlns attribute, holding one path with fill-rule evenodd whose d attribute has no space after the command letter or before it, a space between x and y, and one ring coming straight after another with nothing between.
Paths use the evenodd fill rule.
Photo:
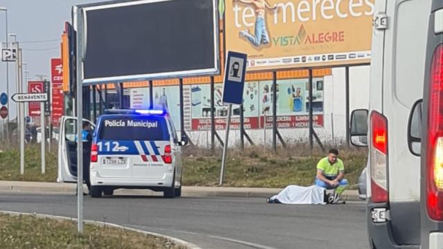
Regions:
<instances>
[{"instance_id":1,"label":"dark side mirror sticking out left of the white van, above crouching man","mask_svg":"<svg viewBox=\"0 0 443 249\"><path fill-rule=\"evenodd\" d=\"M351 113L351 143L356 147L368 146L368 109L357 109Z\"/></svg>"}]
</instances>

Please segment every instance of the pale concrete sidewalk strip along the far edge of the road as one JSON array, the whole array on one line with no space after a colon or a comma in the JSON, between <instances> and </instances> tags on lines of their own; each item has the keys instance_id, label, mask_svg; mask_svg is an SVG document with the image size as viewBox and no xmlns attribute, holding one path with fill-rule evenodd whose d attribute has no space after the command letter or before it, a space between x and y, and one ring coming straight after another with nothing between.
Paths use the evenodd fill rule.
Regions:
<instances>
[{"instance_id":1,"label":"pale concrete sidewalk strip along the far edge of the road","mask_svg":"<svg viewBox=\"0 0 443 249\"><path fill-rule=\"evenodd\" d=\"M73 183L36 183L26 181L0 181L0 192L74 194ZM84 186L86 188L86 185ZM280 188L262 187L190 187L183 186L183 196L190 197L260 197L266 198L280 192ZM116 190L116 194L145 195L150 190ZM159 193L155 193L158 195ZM341 199L361 201L357 190L346 190Z\"/></svg>"}]
</instances>

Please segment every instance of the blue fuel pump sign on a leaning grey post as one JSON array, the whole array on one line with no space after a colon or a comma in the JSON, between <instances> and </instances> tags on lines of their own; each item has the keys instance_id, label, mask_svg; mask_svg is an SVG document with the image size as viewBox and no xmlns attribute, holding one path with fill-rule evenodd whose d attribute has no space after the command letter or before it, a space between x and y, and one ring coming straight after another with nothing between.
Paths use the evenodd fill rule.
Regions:
<instances>
[{"instance_id":1,"label":"blue fuel pump sign on a leaning grey post","mask_svg":"<svg viewBox=\"0 0 443 249\"><path fill-rule=\"evenodd\" d=\"M233 104L242 104L244 78L246 76L246 59L247 55L228 51L226 57L226 66L223 80L223 96L221 100L224 104L229 104L228 117L226 118L226 133L223 146L223 156L221 158L220 181L223 184L224 169L226 163L226 151L228 149L230 115L232 113ZM242 134L243 136L243 134Z\"/></svg>"}]
</instances>

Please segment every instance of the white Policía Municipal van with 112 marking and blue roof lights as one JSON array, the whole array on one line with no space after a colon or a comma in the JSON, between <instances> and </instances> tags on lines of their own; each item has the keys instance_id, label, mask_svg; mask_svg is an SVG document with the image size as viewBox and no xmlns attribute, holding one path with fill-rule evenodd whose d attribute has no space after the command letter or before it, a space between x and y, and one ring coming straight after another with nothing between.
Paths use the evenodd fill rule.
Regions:
<instances>
[{"instance_id":1,"label":"white Polic\u00eda Municipal van with 112 marking and blue roof lights","mask_svg":"<svg viewBox=\"0 0 443 249\"><path fill-rule=\"evenodd\" d=\"M59 160L62 182L76 181L75 135L63 118ZM72 126L72 125L71 125ZM98 118L91 145L91 196L111 195L114 190L149 189L166 198L181 196L182 161L177 131L161 110L109 110ZM75 156L74 156L75 155Z\"/></svg>"}]
</instances>

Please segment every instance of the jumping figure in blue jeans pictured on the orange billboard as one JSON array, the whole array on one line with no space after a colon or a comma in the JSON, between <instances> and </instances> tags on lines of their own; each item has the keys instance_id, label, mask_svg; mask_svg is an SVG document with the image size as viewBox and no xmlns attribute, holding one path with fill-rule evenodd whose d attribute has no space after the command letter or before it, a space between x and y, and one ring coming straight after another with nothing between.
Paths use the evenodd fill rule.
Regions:
<instances>
[{"instance_id":1,"label":"jumping figure in blue jeans pictured on the orange billboard","mask_svg":"<svg viewBox=\"0 0 443 249\"><path fill-rule=\"evenodd\" d=\"M264 15L266 8L275 10L277 6L271 7L265 0L233 0L234 3L236 1L252 6L255 9L255 13L257 13L257 17L255 18L255 35L251 35L247 29L240 31L240 35L257 47L262 44L269 44L269 34L268 30L266 30Z\"/></svg>"}]
</instances>

